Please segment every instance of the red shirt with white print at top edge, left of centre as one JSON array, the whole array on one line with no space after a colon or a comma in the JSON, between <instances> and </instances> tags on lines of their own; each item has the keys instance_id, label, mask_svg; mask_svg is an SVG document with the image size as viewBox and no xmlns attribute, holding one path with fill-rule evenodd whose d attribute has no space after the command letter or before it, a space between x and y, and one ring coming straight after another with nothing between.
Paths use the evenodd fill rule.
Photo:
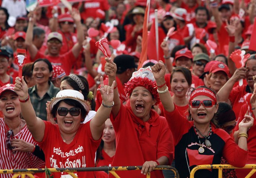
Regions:
<instances>
[{"instance_id":1,"label":"red shirt with white print at top edge, left of centre","mask_svg":"<svg viewBox=\"0 0 256 178\"><path fill-rule=\"evenodd\" d=\"M109 9L108 1L106 0L86 0L84 1L84 10L81 13L83 20L86 20L88 17L96 18L96 10L101 9L107 11Z\"/></svg>"}]
</instances>

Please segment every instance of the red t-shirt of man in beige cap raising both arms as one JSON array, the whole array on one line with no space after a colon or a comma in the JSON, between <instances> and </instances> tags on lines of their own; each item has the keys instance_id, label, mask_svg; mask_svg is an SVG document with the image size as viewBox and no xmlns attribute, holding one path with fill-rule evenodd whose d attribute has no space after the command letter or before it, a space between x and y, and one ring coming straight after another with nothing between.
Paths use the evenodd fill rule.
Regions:
<instances>
[{"instance_id":1,"label":"red t-shirt of man in beige cap raising both arms","mask_svg":"<svg viewBox=\"0 0 256 178\"><path fill-rule=\"evenodd\" d=\"M52 63L52 65L59 65L66 72L66 75L69 75L73 64L76 62L76 58L73 55L72 50L56 57L50 56L50 55L44 55L38 51L36 54L35 60L39 58L46 58Z\"/></svg>"}]
</instances>

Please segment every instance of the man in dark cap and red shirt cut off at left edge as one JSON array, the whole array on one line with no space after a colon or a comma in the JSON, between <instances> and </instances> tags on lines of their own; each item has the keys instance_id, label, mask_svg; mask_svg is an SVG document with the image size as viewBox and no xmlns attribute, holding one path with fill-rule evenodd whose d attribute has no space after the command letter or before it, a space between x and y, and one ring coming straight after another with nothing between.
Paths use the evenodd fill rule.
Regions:
<instances>
[{"instance_id":1,"label":"man in dark cap and red shirt cut off at left edge","mask_svg":"<svg viewBox=\"0 0 256 178\"><path fill-rule=\"evenodd\" d=\"M15 79L7 74L7 69L9 66L9 52L3 47L0 48L0 87L6 85L7 83L14 84Z\"/></svg>"}]
</instances>

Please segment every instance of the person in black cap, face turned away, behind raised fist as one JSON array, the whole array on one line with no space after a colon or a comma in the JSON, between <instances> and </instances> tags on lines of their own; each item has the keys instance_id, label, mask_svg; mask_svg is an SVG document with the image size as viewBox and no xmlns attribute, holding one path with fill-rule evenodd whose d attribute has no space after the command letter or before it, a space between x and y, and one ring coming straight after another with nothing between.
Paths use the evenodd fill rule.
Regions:
<instances>
[{"instance_id":1,"label":"person in black cap, face turned away, behind raised fist","mask_svg":"<svg viewBox=\"0 0 256 178\"><path fill-rule=\"evenodd\" d=\"M135 64L134 57L126 54L118 55L117 57L115 57L114 63L117 67L116 87L118 88L119 98L122 100L122 102L125 102L128 98L124 93L124 84L129 81L132 73L135 72L138 66ZM108 83L108 79L105 79L104 83ZM98 110L102 102L101 93L99 91L97 91L95 102L95 110Z\"/></svg>"}]
</instances>

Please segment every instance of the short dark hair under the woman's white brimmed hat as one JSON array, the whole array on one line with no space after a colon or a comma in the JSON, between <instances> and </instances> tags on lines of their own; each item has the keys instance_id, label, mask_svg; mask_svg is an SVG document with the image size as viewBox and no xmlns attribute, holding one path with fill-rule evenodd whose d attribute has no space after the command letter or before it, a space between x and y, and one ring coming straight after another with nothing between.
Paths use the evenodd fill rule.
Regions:
<instances>
[{"instance_id":1,"label":"short dark hair under the woman's white brimmed hat","mask_svg":"<svg viewBox=\"0 0 256 178\"><path fill-rule=\"evenodd\" d=\"M73 99L63 99L63 100L60 100L58 103L56 103L53 108L52 108L52 115L53 117L56 117L57 115L57 110L58 110L58 107L59 107L59 104L60 102L64 102L70 106L74 106L74 107L78 107L81 109L81 122L83 122L85 120L85 117L86 117L86 109L82 106L81 103L79 103L78 101L76 100L73 100Z\"/></svg>"}]
</instances>

